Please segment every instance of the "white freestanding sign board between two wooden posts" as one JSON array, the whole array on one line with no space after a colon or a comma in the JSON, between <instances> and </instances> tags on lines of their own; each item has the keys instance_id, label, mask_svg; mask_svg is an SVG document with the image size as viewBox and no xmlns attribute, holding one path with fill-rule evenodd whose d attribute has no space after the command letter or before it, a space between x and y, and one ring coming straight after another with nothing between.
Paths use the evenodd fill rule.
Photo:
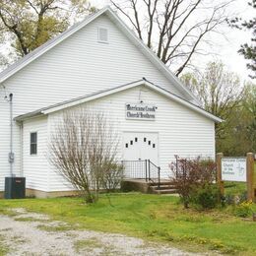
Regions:
<instances>
[{"instance_id":1,"label":"white freestanding sign board between two wooden posts","mask_svg":"<svg viewBox=\"0 0 256 256\"><path fill-rule=\"evenodd\" d=\"M246 158L223 158L222 178L226 181L246 182Z\"/></svg>"}]
</instances>

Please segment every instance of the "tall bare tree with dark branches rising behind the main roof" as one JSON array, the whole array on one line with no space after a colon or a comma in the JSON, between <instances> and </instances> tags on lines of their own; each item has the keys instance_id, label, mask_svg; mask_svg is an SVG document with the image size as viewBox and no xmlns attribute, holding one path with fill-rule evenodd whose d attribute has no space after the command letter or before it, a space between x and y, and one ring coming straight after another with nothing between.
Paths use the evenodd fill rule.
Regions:
<instances>
[{"instance_id":1,"label":"tall bare tree with dark branches rising behind the main roof","mask_svg":"<svg viewBox=\"0 0 256 256\"><path fill-rule=\"evenodd\" d=\"M203 54L206 35L225 23L232 0L111 0L138 36L165 64L177 64L178 76L192 56Z\"/></svg>"}]
</instances>

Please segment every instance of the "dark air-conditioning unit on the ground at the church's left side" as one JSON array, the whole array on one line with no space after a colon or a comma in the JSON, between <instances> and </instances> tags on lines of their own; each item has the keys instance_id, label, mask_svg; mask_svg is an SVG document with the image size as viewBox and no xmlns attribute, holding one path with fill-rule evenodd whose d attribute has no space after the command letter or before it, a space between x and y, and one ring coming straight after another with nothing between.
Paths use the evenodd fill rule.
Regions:
<instances>
[{"instance_id":1,"label":"dark air-conditioning unit on the ground at the church's left side","mask_svg":"<svg viewBox=\"0 0 256 256\"><path fill-rule=\"evenodd\" d=\"M26 196L26 178L5 177L5 199L20 199Z\"/></svg>"}]
</instances>

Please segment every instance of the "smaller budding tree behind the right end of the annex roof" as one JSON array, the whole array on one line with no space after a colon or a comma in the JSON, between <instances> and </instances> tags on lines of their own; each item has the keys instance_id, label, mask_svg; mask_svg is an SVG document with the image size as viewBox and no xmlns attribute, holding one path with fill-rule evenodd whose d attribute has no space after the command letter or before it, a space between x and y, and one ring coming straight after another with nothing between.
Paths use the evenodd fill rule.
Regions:
<instances>
[{"instance_id":1,"label":"smaller budding tree behind the right end of the annex roof","mask_svg":"<svg viewBox=\"0 0 256 256\"><path fill-rule=\"evenodd\" d=\"M212 114L224 119L216 124L216 137L224 137L230 117L244 96L239 78L224 68L222 62L210 62L203 74L185 74L183 83L200 99L202 106Z\"/></svg>"}]
</instances>

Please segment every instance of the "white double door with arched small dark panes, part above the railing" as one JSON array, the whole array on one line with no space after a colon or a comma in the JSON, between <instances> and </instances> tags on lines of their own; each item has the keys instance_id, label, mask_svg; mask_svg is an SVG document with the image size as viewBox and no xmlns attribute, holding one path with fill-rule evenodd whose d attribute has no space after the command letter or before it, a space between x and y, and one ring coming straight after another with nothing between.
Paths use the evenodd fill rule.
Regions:
<instances>
[{"instance_id":1,"label":"white double door with arched small dark panes, part above the railing","mask_svg":"<svg viewBox=\"0 0 256 256\"><path fill-rule=\"evenodd\" d=\"M159 134L124 132L124 160L151 160L159 164Z\"/></svg>"}]
</instances>

